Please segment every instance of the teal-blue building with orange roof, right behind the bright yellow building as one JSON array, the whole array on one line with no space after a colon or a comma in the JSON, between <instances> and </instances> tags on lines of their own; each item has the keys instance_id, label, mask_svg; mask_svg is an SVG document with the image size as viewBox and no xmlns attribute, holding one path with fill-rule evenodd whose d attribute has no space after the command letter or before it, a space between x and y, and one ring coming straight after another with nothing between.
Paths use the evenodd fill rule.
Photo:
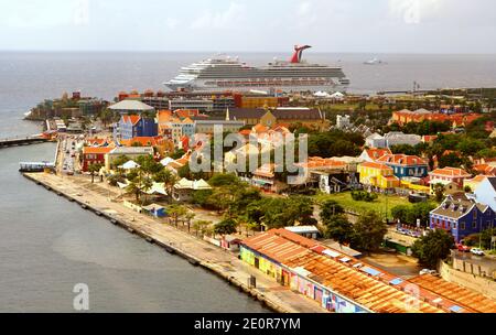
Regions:
<instances>
[{"instance_id":1,"label":"teal-blue building with orange roof, right behind the bright yellow building","mask_svg":"<svg viewBox=\"0 0 496 335\"><path fill-rule=\"evenodd\" d=\"M429 174L429 163L417 155L386 154L379 158L377 162L391 168L395 176L399 179L423 179Z\"/></svg>"}]
</instances>

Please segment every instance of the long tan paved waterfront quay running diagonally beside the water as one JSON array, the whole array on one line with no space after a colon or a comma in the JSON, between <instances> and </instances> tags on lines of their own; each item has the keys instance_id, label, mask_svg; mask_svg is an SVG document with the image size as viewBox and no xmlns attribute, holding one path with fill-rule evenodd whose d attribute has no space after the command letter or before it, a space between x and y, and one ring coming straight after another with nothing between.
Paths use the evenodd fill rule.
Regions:
<instances>
[{"instance_id":1,"label":"long tan paved waterfront quay running diagonally beside the water","mask_svg":"<svg viewBox=\"0 0 496 335\"><path fill-rule=\"evenodd\" d=\"M67 197L68 201L79 203L83 208L91 209L96 215L106 216L109 218L109 224L110 220L119 224L130 233L140 235L148 241L186 258L192 264L201 266L216 273L277 312L326 312L310 299L279 285L257 269L244 263L236 255L160 223L148 215L133 212L120 202L111 201L106 188L101 187L99 192L89 181L82 183L75 177L62 177L45 173L26 173L24 175L56 194ZM251 275L257 278L256 289L247 285Z\"/></svg>"}]
</instances>

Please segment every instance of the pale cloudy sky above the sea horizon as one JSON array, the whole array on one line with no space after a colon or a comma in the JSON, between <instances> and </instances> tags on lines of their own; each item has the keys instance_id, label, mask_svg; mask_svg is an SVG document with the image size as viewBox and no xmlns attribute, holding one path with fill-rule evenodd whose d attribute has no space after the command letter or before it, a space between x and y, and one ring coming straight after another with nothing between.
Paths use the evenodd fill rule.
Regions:
<instances>
[{"instance_id":1,"label":"pale cloudy sky above the sea horizon","mask_svg":"<svg viewBox=\"0 0 496 335\"><path fill-rule=\"evenodd\" d=\"M496 53L494 0L0 0L3 51Z\"/></svg>"}]
</instances>

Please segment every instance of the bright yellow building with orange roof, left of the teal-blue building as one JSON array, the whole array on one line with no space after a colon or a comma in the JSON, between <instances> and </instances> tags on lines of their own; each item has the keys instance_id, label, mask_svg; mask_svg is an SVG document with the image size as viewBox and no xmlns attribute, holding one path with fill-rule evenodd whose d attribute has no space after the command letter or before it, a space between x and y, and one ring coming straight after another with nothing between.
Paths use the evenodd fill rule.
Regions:
<instances>
[{"instance_id":1,"label":"bright yellow building with orange roof, left of the teal-blue building","mask_svg":"<svg viewBox=\"0 0 496 335\"><path fill-rule=\"evenodd\" d=\"M400 180L395 176L393 170L386 164L365 162L358 165L360 183L382 190L400 186Z\"/></svg>"}]
</instances>

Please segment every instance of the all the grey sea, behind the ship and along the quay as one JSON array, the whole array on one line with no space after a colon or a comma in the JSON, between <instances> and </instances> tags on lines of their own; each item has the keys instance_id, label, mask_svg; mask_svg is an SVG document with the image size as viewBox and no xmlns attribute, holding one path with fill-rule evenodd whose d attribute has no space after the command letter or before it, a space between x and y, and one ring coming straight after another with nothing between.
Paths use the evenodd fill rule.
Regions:
<instances>
[{"instance_id":1,"label":"all the grey sea, behind the ship and along the quay","mask_svg":"<svg viewBox=\"0 0 496 335\"><path fill-rule=\"evenodd\" d=\"M41 132L24 114L63 93L112 100L121 90L164 89L181 66L213 53L0 52L0 139ZM241 53L263 65L285 54ZM377 57L385 64L365 65ZM496 87L496 55L305 54L341 65L349 91ZM23 179L20 161L52 160L55 145L0 149L0 312L73 312L74 285L90 312L268 312L192 267Z\"/></svg>"}]
</instances>

